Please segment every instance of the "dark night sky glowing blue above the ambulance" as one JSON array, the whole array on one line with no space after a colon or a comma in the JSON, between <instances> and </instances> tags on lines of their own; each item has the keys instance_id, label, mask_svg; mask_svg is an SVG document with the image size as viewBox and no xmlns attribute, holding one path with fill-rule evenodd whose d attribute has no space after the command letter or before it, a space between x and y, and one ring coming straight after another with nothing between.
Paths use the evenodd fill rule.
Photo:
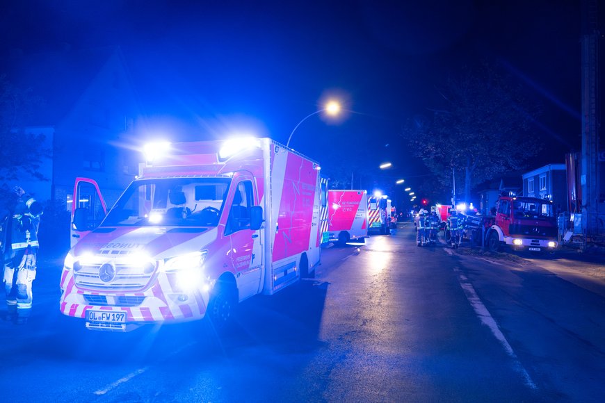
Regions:
<instances>
[{"instance_id":1,"label":"dark night sky glowing blue above the ambulance","mask_svg":"<svg viewBox=\"0 0 605 403\"><path fill-rule=\"evenodd\" d=\"M336 121L309 118L291 147L328 168L392 161L390 174L413 183L424 169L401 138L404 122L438 105L437 88L449 76L489 58L545 108L535 131L549 152L530 169L563 163L581 146L580 1L15 0L2 7L2 60L17 49L119 45L150 136L243 131L285 143L303 117L338 97L347 112Z\"/></svg>"}]
</instances>

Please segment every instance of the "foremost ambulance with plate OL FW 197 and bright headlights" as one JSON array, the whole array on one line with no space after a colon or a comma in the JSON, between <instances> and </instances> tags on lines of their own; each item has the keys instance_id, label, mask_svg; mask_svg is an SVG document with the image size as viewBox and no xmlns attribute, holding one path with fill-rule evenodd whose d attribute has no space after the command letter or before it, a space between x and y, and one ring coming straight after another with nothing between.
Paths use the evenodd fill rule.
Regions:
<instances>
[{"instance_id":1,"label":"foremost ambulance with plate OL FW 197 and bright headlights","mask_svg":"<svg viewBox=\"0 0 605 403\"><path fill-rule=\"evenodd\" d=\"M326 200L316 162L268 138L159 151L98 227L98 186L76 180L63 314L88 329L206 315L221 328L238 302L314 277Z\"/></svg>"}]
</instances>

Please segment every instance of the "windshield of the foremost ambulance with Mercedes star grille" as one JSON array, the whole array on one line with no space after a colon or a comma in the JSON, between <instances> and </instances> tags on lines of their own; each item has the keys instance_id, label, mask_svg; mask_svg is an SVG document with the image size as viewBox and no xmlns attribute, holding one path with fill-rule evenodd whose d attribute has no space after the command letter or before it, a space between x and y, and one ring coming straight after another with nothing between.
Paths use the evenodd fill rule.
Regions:
<instances>
[{"instance_id":1,"label":"windshield of the foremost ambulance with Mercedes star grille","mask_svg":"<svg viewBox=\"0 0 605 403\"><path fill-rule=\"evenodd\" d=\"M102 227L216 227L229 178L161 178L134 181Z\"/></svg>"}]
</instances>

